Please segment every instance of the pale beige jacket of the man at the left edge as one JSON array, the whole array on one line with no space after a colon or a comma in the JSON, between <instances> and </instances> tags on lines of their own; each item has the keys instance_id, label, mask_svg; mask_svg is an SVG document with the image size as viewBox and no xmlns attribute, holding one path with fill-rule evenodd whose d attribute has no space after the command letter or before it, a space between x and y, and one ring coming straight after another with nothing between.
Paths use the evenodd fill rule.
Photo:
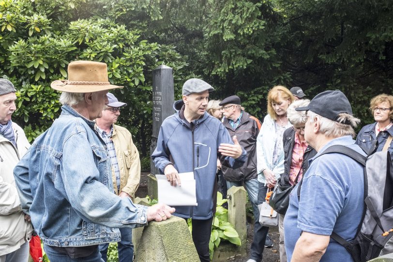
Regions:
<instances>
[{"instance_id":1,"label":"pale beige jacket of the man at the left edge","mask_svg":"<svg viewBox=\"0 0 393 262\"><path fill-rule=\"evenodd\" d=\"M31 223L25 221L15 187L14 167L30 144L23 129L13 123L16 147L0 135L0 256L30 241Z\"/></svg>"}]
</instances>

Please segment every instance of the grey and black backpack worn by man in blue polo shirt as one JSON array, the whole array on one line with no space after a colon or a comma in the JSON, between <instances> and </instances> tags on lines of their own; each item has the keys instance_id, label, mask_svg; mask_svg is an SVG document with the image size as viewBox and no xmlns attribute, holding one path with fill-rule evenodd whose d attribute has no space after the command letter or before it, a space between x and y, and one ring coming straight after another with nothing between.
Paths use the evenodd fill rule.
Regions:
<instances>
[{"instance_id":1,"label":"grey and black backpack worn by man in blue polo shirt","mask_svg":"<svg viewBox=\"0 0 393 262\"><path fill-rule=\"evenodd\" d=\"M334 145L319 155L344 154L364 167L364 210L356 235L349 242L334 232L331 235L355 262L378 257L393 235L393 162L389 151L374 151L365 157L347 146ZM298 187L299 200L301 187L302 180Z\"/></svg>"}]
</instances>

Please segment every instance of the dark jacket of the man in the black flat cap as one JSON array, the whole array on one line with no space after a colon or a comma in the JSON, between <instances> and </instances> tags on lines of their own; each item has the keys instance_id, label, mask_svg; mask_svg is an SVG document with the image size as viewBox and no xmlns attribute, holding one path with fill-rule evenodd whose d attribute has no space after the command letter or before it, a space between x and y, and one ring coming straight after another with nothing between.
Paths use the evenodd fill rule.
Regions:
<instances>
[{"instance_id":1,"label":"dark jacket of the man in the black flat cap","mask_svg":"<svg viewBox=\"0 0 393 262\"><path fill-rule=\"evenodd\" d=\"M227 128L229 135L236 135L239 144L247 151L247 160L242 167L232 169L225 166L225 162L220 158L222 171L227 181L247 181L257 178L257 122L249 117L247 112L243 111L242 118L236 130L233 130L227 118L224 119L223 125Z\"/></svg>"}]
</instances>

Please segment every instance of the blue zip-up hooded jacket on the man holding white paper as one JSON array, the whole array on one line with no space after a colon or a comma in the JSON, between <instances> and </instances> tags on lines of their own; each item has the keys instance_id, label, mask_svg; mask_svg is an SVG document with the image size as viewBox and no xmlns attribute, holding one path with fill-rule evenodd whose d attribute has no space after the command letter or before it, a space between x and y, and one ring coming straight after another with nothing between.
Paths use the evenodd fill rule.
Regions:
<instances>
[{"instance_id":1,"label":"blue zip-up hooded jacket on the man holding white paper","mask_svg":"<svg viewBox=\"0 0 393 262\"><path fill-rule=\"evenodd\" d=\"M173 160L179 173L193 172L197 187L197 206L176 206L174 215L181 218L209 219L213 215L213 192L217 170L218 146L233 144L227 129L208 113L188 123L179 116L184 102L176 101L176 113L168 116L161 125L157 147L151 155L154 165L164 174ZM170 160L169 160L170 159ZM247 159L243 149L238 159L227 157L225 165L239 168Z\"/></svg>"}]
</instances>

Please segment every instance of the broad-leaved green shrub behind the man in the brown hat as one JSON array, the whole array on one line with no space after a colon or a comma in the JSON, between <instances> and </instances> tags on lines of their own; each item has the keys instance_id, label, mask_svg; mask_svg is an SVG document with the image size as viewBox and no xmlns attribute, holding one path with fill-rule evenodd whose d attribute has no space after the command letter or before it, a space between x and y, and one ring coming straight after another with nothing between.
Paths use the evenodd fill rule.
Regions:
<instances>
[{"instance_id":1,"label":"broad-leaved green shrub behind the man in the brown hat","mask_svg":"<svg viewBox=\"0 0 393 262\"><path fill-rule=\"evenodd\" d=\"M161 17L155 2L122 3L123 7L102 0L0 1L0 77L10 79L18 90L13 120L25 127L30 142L60 114L60 92L50 83L67 79L69 62L93 60L107 64L110 83L124 86L113 90L128 103L118 124L132 132L141 156L149 155L151 71L165 63L173 68L175 79L184 82L187 63L173 45L141 37L146 19ZM120 9L127 21L117 19ZM180 83L176 85L179 90Z\"/></svg>"}]
</instances>

